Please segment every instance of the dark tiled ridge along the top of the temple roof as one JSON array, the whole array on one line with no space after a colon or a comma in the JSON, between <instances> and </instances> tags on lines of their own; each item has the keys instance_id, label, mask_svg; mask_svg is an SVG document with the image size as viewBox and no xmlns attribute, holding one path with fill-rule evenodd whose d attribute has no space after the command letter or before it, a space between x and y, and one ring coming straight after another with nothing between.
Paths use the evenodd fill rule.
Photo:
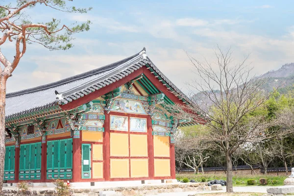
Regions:
<instances>
[{"instance_id":1,"label":"dark tiled ridge along the top of the temple roof","mask_svg":"<svg viewBox=\"0 0 294 196\"><path fill-rule=\"evenodd\" d=\"M25 94L29 94L29 93L35 93L35 92L42 91L42 90L47 90L47 89L50 89L50 88L53 88L53 87L61 86L63 84L68 84L68 83L71 83L73 81L89 77L89 76L92 76L92 75L96 75L98 73L110 71L110 70L113 69L112 66L114 66L116 64L120 64L122 62L125 63L125 62L131 60L132 58L140 55L140 53L143 50L146 50L145 47L140 52L138 52L138 53L136 53L136 54L134 54L132 56L129 56L127 58L124 58L123 60L117 61L115 63L111 63L109 65L99 67L97 69L94 69L94 70L91 70L91 71L88 71L88 72L85 72L85 73L80 73L80 74L77 74L77 75L73 75L71 77L67 77L67 78L64 78L64 79L61 79L61 80L58 80L56 82L52 82L52 83L49 83L49 84L45 84L45 85L41 85L41 86L37 86L37 87L25 89L25 90L13 92L13 93L8 93L8 94L6 94L6 98L11 98L11 97L21 96L21 95L25 95Z\"/></svg>"}]
</instances>

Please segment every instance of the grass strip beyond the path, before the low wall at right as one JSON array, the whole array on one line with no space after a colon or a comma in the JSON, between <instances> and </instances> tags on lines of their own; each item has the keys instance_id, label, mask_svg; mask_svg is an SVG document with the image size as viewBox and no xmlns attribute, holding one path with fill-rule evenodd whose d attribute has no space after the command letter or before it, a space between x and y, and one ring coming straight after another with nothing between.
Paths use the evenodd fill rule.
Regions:
<instances>
[{"instance_id":1,"label":"grass strip beyond the path, before the low wall at right","mask_svg":"<svg viewBox=\"0 0 294 196\"><path fill-rule=\"evenodd\" d=\"M213 174L176 174L176 179L183 180L184 178L188 178L190 180L195 180L196 182L201 182L202 178L205 178L205 181L208 182L210 180L226 180L226 175L213 175ZM247 180L252 179L255 180L255 186L281 186L284 185L284 180L288 176L280 175L234 175L233 176L233 186L250 186L247 185ZM267 185L261 185L259 182L260 178L266 178L268 181Z\"/></svg>"}]
</instances>

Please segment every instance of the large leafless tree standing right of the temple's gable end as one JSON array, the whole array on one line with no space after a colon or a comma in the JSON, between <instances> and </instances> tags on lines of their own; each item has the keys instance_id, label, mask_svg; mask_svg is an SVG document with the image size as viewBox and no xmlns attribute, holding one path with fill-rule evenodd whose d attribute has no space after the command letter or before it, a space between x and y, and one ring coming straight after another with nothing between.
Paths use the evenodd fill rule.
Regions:
<instances>
[{"instance_id":1,"label":"large leafless tree standing right of the temple's gable end","mask_svg":"<svg viewBox=\"0 0 294 196\"><path fill-rule=\"evenodd\" d=\"M189 55L188 55L189 56ZM175 104L169 110L180 119L204 122L203 133L195 138L213 142L226 157L227 192L233 192L232 154L245 142L258 142L274 137L272 126L264 116L250 116L269 98L261 92L265 79L251 76L244 61L234 63L231 49L215 50L216 61L204 63L189 56L198 80L189 84L193 104ZM196 94L196 92L198 92Z\"/></svg>"}]
</instances>

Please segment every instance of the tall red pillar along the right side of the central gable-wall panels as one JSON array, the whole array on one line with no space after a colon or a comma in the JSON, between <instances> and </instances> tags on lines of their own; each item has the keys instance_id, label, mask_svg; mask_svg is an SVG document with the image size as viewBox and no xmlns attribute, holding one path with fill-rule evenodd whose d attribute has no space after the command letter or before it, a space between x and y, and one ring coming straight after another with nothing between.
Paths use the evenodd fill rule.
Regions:
<instances>
[{"instance_id":1,"label":"tall red pillar along the right side of the central gable-wall panels","mask_svg":"<svg viewBox=\"0 0 294 196\"><path fill-rule=\"evenodd\" d=\"M153 135L152 135L152 119L147 117L147 133L148 133L148 157L149 157L149 179L154 179L154 151L153 151Z\"/></svg>"}]
</instances>

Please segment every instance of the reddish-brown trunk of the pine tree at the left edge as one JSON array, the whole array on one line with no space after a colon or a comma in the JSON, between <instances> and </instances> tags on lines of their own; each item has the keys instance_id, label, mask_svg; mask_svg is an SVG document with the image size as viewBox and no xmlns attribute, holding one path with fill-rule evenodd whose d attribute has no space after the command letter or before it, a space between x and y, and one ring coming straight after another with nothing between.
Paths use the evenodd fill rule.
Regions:
<instances>
[{"instance_id":1,"label":"reddish-brown trunk of the pine tree at the left edge","mask_svg":"<svg viewBox=\"0 0 294 196\"><path fill-rule=\"evenodd\" d=\"M0 193L2 193L5 158L5 96L6 79L0 76Z\"/></svg>"}]
</instances>

